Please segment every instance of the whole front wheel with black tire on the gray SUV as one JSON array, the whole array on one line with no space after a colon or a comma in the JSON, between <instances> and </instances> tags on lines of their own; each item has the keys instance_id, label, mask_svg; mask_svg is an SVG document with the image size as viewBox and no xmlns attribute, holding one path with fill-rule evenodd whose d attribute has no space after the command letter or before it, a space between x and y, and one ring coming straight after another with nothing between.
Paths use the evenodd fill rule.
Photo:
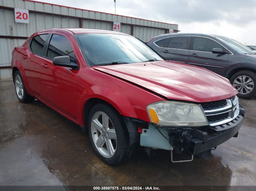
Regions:
<instances>
[{"instance_id":1,"label":"whole front wheel with black tire on the gray SUV","mask_svg":"<svg viewBox=\"0 0 256 191\"><path fill-rule=\"evenodd\" d=\"M249 99L256 95L256 74L254 72L239 71L231 76L230 83L238 90L240 98Z\"/></svg>"}]
</instances>

